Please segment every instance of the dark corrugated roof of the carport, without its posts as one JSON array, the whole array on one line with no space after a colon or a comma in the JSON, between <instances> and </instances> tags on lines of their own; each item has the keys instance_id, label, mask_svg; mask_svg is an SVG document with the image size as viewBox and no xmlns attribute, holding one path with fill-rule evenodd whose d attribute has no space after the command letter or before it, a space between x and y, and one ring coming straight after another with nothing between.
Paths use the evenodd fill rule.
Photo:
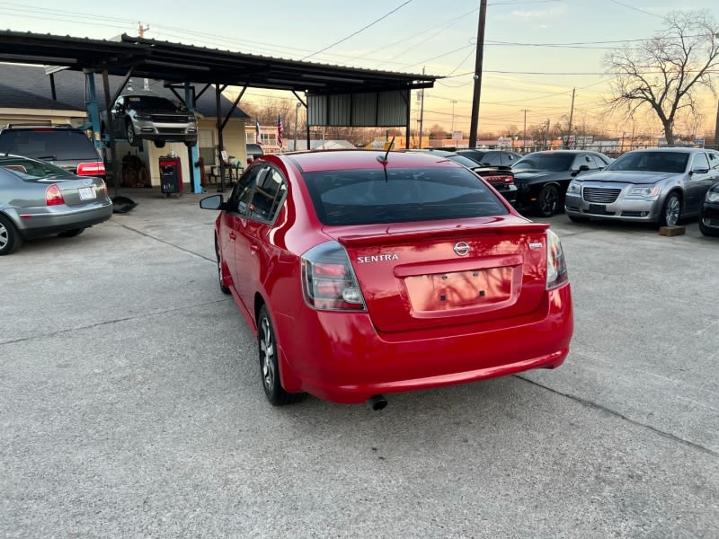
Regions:
<instances>
[{"instance_id":1,"label":"dark corrugated roof of the carport, without its posts","mask_svg":"<svg viewBox=\"0 0 719 539\"><path fill-rule=\"evenodd\" d=\"M249 86L318 94L411 91L431 88L441 78L332 66L208 49L122 34L119 40L91 40L31 32L0 31L0 61L171 83Z\"/></svg>"}]
</instances>

